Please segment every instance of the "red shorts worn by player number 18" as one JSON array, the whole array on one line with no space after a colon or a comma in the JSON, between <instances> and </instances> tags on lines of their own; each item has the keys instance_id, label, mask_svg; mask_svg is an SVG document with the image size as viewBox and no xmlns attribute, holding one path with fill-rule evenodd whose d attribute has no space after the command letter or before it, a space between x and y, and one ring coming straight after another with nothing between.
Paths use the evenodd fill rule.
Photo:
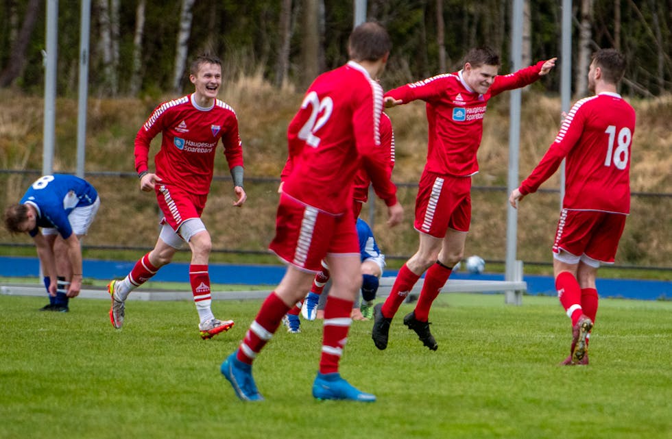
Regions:
<instances>
[{"instance_id":1,"label":"red shorts worn by player number 18","mask_svg":"<svg viewBox=\"0 0 672 439\"><path fill-rule=\"evenodd\" d=\"M557 222L553 253L563 250L571 255L586 255L596 261L613 264L626 216L563 209Z\"/></svg>"}]
</instances>

